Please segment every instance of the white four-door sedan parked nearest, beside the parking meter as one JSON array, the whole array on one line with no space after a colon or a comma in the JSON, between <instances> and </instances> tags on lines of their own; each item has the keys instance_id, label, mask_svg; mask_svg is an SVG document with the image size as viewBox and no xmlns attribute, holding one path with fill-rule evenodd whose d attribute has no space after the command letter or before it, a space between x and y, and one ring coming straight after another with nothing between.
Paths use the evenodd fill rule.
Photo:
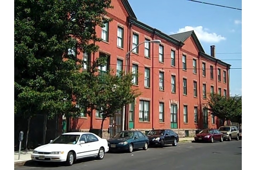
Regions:
<instances>
[{"instance_id":1,"label":"white four-door sedan parked nearest, beside the parking meter","mask_svg":"<svg viewBox=\"0 0 256 170\"><path fill-rule=\"evenodd\" d=\"M68 166L85 157L104 158L108 141L89 132L69 132L58 136L47 145L34 149L31 160L39 162L65 162Z\"/></svg>"}]
</instances>

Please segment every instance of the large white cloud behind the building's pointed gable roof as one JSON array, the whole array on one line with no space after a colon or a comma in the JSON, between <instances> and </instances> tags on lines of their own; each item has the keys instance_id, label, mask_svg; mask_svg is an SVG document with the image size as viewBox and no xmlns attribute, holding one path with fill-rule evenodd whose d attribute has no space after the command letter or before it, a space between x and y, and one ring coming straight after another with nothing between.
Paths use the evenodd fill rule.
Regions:
<instances>
[{"instance_id":1,"label":"large white cloud behind the building's pointed gable roof","mask_svg":"<svg viewBox=\"0 0 256 170\"><path fill-rule=\"evenodd\" d=\"M224 36L217 35L215 32L209 32L209 29L203 28L202 26L185 26L184 28L180 28L179 31L176 32L176 34L192 30L195 31L197 38L202 42L217 43L222 40L226 40Z\"/></svg>"}]
</instances>

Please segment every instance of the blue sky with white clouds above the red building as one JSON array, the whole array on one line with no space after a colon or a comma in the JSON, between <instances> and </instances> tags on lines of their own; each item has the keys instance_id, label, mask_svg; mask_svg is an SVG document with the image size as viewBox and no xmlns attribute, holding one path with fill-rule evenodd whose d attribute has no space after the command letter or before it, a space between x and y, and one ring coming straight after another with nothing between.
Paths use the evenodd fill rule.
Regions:
<instances>
[{"instance_id":1,"label":"blue sky with white clouds above the red building","mask_svg":"<svg viewBox=\"0 0 256 170\"><path fill-rule=\"evenodd\" d=\"M242 8L241 0L198 1ZM210 45L215 45L216 58L232 65L230 94L242 95L242 69L234 69L242 68L241 10L187 0L129 0L129 3L138 20L151 27L166 34L193 29L207 54L210 54Z\"/></svg>"}]
</instances>

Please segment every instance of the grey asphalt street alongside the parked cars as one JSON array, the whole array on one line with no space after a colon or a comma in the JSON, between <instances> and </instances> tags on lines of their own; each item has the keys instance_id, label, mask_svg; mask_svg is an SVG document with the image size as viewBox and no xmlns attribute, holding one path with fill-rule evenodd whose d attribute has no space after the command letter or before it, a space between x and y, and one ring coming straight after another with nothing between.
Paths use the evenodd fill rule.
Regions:
<instances>
[{"instance_id":1,"label":"grey asphalt street alongside the parked cars","mask_svg":"<svg viewBox=\"0 0 256 170\"><path fill-rule=\"evenodd\" d=\"M103 160L80 160L73 166L28 164L15 170L241 170L242 141L178 143L133 153L106 153Z\"/></svg>"}]
</instances>

